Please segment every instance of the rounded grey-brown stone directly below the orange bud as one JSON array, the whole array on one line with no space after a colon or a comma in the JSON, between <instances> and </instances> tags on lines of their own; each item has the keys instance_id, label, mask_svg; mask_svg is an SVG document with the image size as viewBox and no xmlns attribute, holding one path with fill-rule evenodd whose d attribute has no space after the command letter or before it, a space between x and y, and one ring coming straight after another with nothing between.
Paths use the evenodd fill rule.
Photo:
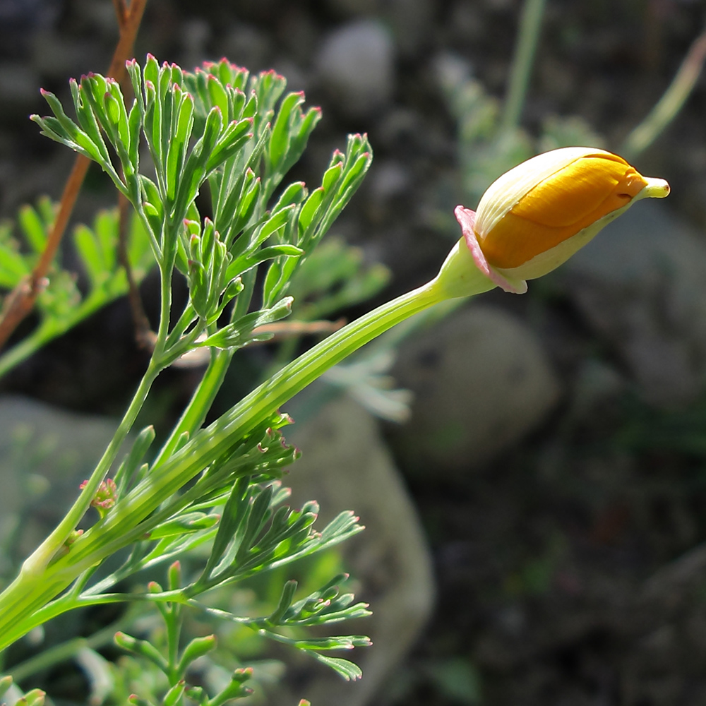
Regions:
<instances>
[{"instance_id":1,"label":"rounded grey-brown stone directly below the orange bud","mask_svg":"<svg viewBox=\"0 0 706 706\"><path fill-rule=\"evenodd\" d=\"M545 419L560 385L532 331L472 304L400 347L393 375L414 393L412 418L390 431L405 469L461 474Z\"/></svg>"}]
</instances>

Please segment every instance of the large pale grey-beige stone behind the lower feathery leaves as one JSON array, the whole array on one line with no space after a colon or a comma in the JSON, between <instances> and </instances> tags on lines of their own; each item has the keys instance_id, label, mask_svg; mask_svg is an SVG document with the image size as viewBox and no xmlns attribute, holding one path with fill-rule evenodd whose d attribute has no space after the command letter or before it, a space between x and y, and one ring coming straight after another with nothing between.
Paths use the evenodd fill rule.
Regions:
<instances>
[{"instance_id":1,"label":"large pale grey-beige stone behind the lower feathery leaves","mask_svg":"<svg viewBox=\"0 0 706 706\"><path fill-rule=\"evenodd\" d=\"M292 506L316 499L321 503L321 522L342 510L354 510L366 526L340 548L360 585L356 599L369 602L373 616L343 629L346 634L369 635L373 645L349 655L363 669L361 681L345 683L312 664L306 683L298 681L292 695L277 702L296 703L304 696L313 704L363 706L371 702L429 617L434 593L429 550L376 421L359 405L340 397L309 423L288 429L287 441L303 450L285 479L293 489Z\"/></svg>"}]
</instances>

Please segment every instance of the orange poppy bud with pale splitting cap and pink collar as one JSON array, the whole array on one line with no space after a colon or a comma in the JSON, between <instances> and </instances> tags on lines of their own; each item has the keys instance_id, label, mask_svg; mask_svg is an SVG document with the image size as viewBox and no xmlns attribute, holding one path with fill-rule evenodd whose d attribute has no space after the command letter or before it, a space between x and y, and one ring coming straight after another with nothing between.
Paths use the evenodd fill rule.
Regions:
<instances>
[{"instance_id":1,"label":"orange poppy bud with pale splitting cap and pink collar","mask_svg":"<svg viewBox=\"0 0 706 706\"><path fill-rule=\"evenodd\" d=\"M669 193L618 155L587 147L545 152L489 186L477 212L455 215L477 268L509 292L566 262L635 201ZM443 268L442 268L443 270Z\"/></svg>"}]
</instances>

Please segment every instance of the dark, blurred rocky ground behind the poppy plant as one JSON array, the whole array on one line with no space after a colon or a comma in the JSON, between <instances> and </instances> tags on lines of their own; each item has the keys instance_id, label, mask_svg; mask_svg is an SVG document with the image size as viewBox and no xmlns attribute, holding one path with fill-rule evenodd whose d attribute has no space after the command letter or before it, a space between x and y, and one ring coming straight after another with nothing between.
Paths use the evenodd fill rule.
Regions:
<instances>
[{"instance_id":1,"label":"dark, blurred rocky ground behind the poppy plant","mask_svg":"<svg viewBox=\"0 0 706 706\"><path fill-rule=\"evenodd\" d=\"M26 116L44 111L40 85L66 97L69 76L107 66L112 12L109 0L0 3L4 217L59 196L71 155ZM368 132L373 168L335 230L393 270L389 297L433 276L457 237L438 215L462 198L438 67L460 61L502 97L519 14L517 0L150 0L136 54L184 67L225 54L284 73L323 107L297 167L307 181L345 133ZM549 0L523 124L537 134L547 116L580 116L617 150L703 20L688 0ZM409 490L431 551L397 565L399 585L421 585L397 607L431 610L430 567L436 584L407 657L371 676L371 703L706 704L704 85L636 164L670 181L668 203L639 204L525 297L491 292L407 340L395 375L416 397L406 426L384 426L393 457L360 422L383 448L381 478L401 472L395 488ZM78 217L111 198L91 173ZM149 307L149 282L143 293ZM144 364L116 304L1 385L116 414ZM151 410L164 424L193 375L164 376ZM234 394L249 378L229 384ZM369 513L387 538L385 508Z\"/></svg>"}]
</instances>

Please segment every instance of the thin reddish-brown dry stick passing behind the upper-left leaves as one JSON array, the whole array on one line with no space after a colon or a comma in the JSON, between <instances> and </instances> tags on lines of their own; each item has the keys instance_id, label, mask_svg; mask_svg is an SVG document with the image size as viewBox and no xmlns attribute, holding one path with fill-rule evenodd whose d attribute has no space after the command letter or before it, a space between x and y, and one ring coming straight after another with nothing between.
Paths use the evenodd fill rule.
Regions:
<instances>
[{"instance_id":1,"label":"thin reddish-brown dry stick passing behind the upper-left leaves","mask_svg":"<svg viewBox=\"0 0 706 706\"><path fill-rule=\"evenodd\" d=\"M147 0L132 0L130 8L126 9L124 0L114 0L120 26L120 38L115 47L107 75L118 81L123 80L126 76L125 62L132 54L135 37L140 27L146 4ZM2 311L0 311L0 347L6 344L20 321L32 311L37 296L46 286L49 267L54 261L61 238L64 236L68 219L71 217L73 206L76 204L78 192L81 184L83 184L85 174L88 172L88 164L90 164L90 160L83 157L83 155L76 155L73 169L71 169L71 174L69 174L66 186L64 186L64 193L61 194L59 213L56 215L54 227L52 227L52 231L47 238L47 247L44 249L32 274L29 277L25 277L5 297Z\"/></svg>"}]
</instances>

